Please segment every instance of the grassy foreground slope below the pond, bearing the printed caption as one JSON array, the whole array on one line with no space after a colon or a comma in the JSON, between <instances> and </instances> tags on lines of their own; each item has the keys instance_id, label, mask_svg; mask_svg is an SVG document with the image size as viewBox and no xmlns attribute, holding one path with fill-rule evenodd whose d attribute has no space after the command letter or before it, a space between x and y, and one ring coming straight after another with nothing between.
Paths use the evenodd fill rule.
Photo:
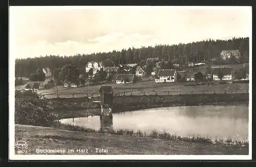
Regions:
<instances>
[{"instance_id":1,"label":"grassy foreground slope below the pond, bearing the printed caption","mask_svg":"<svg viewBox=\"0 0 256 167\"><path fill-rule=\"evenodd\" d=\"M223 144L202 144L186 141L171 141L113 134L86 133L58 130L45 127L15 125L15 140L28 143L27 154L36 149L65 149L64 154L162 154L162 155L247 155L248 146ZM98 149L108 149L108 153L96 153ZM74 153L67 153L73 149ZM87 149L88 153L76 152ZM15 148L17 154L17 148ZM55 153L60 154L60 153Z\"/></svg>"}]
</instances>

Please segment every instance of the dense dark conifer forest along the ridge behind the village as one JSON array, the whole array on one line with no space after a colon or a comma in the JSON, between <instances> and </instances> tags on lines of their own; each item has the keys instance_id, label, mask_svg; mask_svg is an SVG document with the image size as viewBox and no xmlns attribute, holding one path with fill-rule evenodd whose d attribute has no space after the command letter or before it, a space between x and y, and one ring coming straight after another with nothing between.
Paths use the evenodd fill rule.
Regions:
<instances>
[{"instance_id":1,"label":"dense dark conifer forest along the ridge behind the village","mask_svg":"<svg viewBox=\"0 0 256 167\"><path fill-rule=\"evenodd\" d=\"M145 59L158 57L166 61L172 60L174 64L186 65L187 62L201 62L218 59L222 50L239 50L240 62L249 61L249 38L232 38L229 40L203 40L188 44L156 45L155 47L129 48L121 51L113 50L108 53L76 54L70 56L47 55L35 58L16 59L15 76L29 77L38 68L55 70L71 64L83 73L84 66L89 61L102 61L111 59L117 64L140 63L145 64Z\"/></svg>"}]
</instances>

